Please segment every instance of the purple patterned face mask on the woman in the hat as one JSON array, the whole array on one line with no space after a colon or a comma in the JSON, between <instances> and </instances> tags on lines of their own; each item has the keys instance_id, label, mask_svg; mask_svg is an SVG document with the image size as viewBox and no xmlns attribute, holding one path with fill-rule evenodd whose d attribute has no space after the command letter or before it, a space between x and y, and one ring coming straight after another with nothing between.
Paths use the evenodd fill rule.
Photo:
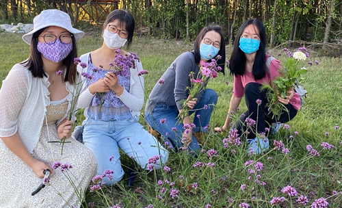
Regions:
<instances>
[{"instance_id":1,"label":"purple patterned face mask on the woman in the hat","mask_svg":"<svg viewBox=\"0 0 342 208\"><path fill-rule=\"evenodd\" d=\"M64 44L58 39L53 44L38 42L37 49L47 60L57 63L69 55L70 51L73 50L73 43Z\"/></svg>"}]
</instances>

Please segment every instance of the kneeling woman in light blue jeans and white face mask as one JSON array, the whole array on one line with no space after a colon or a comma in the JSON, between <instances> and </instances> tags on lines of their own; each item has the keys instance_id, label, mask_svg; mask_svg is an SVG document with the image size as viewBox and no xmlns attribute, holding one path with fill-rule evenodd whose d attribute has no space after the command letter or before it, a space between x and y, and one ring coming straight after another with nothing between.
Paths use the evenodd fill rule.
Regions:
<instances>
[{"instance_id":1,"label":"kneeling woman in light blue jeans and white face mask","mask_svg":"<svg viewBox=\"0 0 342 208\"><path fill-rule=\"evenodd\" d=\"M77 104L79 108L86 108L83 143L96 156L97 174L114 170L112 179L103 179L107 185L120 181L124 175L119 148L143 169L159 169L168 160L168 151L138 122L144 105L141 62L135 60L122 74L110 70L116 55L131 56L122 47L126 42L127 47L131 44L134 27L134 18L129 12L114 10L103 24L102 47L81 55L82 62L88 63L83 73L91 75L83 84ZM78 70L82 73L81 66Z\"/></svg>"}]
</instances>

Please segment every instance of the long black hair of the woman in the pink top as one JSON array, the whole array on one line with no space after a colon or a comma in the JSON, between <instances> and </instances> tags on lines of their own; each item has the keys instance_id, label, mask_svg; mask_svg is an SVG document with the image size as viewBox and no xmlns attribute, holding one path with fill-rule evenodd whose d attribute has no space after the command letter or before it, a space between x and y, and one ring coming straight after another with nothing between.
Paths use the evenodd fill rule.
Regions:
<instances>
[{"instance_id":1,"label":"long black hair of the woman in the pink top","mask_svg":"<svg viewBox=\"0 0 342 208\"><path fill-rule=\"evenodd\" d=\"M244 29L248 25L253 25L257 27L259 30L259 38L261 40L259 49L257 51L257 55L255 55L255 60L252 68L252 73L254 79L263 79L266 75L265 71L265 64L266 64L266 32L265 27L261 21L257 20L256 18L251 18L248 21L245 21L237 31L237 36L234 41L233 52L231 58L229 59L229 69L231 70L232 75L244 75L245 68L246 68L246 56L244 51L241 51L239 48L239 41L241 35L244 33Z\"/></svg>"}]
</instances>

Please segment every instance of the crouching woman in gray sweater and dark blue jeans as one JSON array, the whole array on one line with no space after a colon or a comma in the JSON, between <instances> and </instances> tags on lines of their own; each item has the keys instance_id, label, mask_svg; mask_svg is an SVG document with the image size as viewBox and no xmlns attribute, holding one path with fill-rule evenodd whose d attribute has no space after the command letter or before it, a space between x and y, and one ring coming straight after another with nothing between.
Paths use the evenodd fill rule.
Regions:
<instances>
[{"instance_id":1,"label":"crouching woman in gray sweater and dark blue jeans","mask_svg":"<svg viewBox=\"0 0 342 208\"><path fill-rule=\"evenodd\" d=\"M176 151L183 143L187 143L189 151L198 151L198 140L202 133L208 131L213 105L218 101L218 94L214 90L202 90L196 98L187 103L189 109L194 109L189 114L195 113L196 127L191 131L186 132L183 129L184 125L192 123L189 116L181 122L178 122L177 116L183 109L183 101L188 99L187 87L192 86L189 74L193 72L193 77L197 77L200 73L200 61L211 62L211 59L218 55L222 57L218 60L218 65L224 68L226 51L221 27L210 25L197 35L194 50L179 55L161 76L165 83L157 82L150 92L145 108L145 120L151 128L163 135L168 145Z\"/></svg>"}]
</instances>

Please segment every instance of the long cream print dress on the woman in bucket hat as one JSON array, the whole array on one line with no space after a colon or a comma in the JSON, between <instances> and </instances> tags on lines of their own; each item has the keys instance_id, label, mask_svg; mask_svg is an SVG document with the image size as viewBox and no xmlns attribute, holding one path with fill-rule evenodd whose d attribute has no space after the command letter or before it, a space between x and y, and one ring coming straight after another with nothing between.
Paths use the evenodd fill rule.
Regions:
<instances>
[{"instance_id":1,"label":"long cream print dress on the woman in bucket hat","mask_svg":"<svg viewBox=\"0 0 342 208\"><path fill-rule=\"evenodd\" d=\"M72 165L73 168L70 168L68 173L72 175L77 190L84 197L86 188L96 174L97 167L94 154L74 138L66 140L70 143L64 144L63 155L61 155L60 143L49 143L49 141L60 140L57 134L56 121L63 118L67 107L68 101L47 106L39 142L31 155L48 166L52 166L55 161ZM3 152L1 157L0 207L57 208L79 207L81 205L72 185L64 176L66 172L62 172L58 168L53 170L50 185L31 196L31 193L42 183L42 179L38 179L33 170L14 153ZM3 180L3 176L6 180Z\"/></svg>"}]
</instances>

